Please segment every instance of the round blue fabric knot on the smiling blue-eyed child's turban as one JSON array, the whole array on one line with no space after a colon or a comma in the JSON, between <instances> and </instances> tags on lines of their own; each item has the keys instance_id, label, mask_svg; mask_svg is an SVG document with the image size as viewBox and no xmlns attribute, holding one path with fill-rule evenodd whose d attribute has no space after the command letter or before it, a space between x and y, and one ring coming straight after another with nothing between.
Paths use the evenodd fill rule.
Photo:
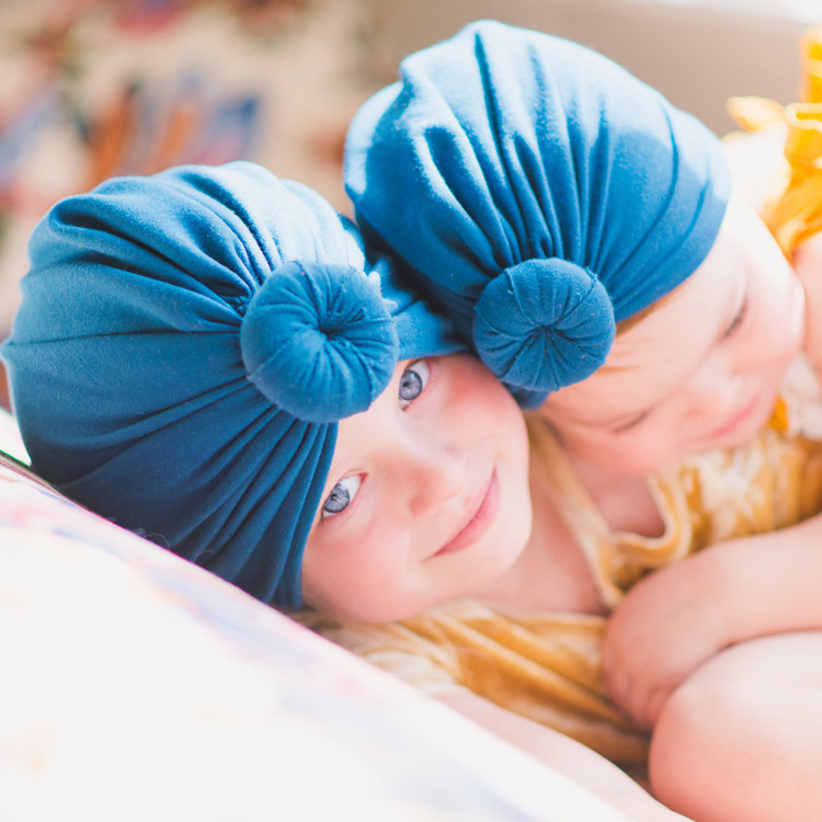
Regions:
<instances>
[{"instance_id":1,"label":"round blue fabric knot on the smiling blue-eyed child's turban","mask_svg":"<svg viewBox=\"0 0 822 822\"><path fill-rule=\"evenodd\" d=\"M251 381L309 422L365 411L390 381L399 354L378 283L347 266L296 261L254 295L240 346Z\"/></svg>"}]
</instances>

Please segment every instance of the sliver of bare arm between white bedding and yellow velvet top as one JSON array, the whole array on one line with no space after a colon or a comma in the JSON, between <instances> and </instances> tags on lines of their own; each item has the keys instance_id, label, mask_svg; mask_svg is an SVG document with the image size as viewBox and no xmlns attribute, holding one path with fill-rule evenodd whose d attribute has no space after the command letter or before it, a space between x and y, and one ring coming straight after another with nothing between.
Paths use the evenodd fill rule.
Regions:
<instances>
[{"instance_id":1,"label":"sliver of bare arm between white bedding and yellow velvet top","mask_svg":"<svg viewBox=\"0 0 822 822\"><path fill-rule=\"evenodd\" d=\"M660 804L624 770L590 747L558 731L512 713L469 690L439 701L535 756L637 822L687 822Z\"/></svg>"}]
</instances>

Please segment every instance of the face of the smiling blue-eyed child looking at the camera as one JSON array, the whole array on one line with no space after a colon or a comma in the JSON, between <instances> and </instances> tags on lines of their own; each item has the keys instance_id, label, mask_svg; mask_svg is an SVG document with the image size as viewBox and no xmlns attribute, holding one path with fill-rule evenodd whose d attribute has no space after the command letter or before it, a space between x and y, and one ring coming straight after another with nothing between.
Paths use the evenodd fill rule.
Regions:
<instances>
[{"instance_id":1,"label":"face of the smiling blue-eyed child looking at the camera","mask_svg":"<svg viewBox=\"0 0 822 822\"><path fill-rule=\"evenodd\" d=\"M402 363L367 411L340 423L323 496L306 603L384 621L469 595L530 534L522 412L472 356Z\"/></svg>"}]
</instances>

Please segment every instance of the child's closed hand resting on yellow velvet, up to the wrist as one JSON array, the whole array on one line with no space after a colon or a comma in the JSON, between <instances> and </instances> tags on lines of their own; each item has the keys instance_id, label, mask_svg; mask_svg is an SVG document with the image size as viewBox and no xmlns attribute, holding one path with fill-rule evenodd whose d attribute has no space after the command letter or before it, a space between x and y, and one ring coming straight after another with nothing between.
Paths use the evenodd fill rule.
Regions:
<instances>
[{"instance_id":1,"label":"child's closed hand resting on yellow velvet, up to the wrist","mask_svg":"<svg viewBox=\"0 0 822 822\"><path fill-rule=\"evenodd\" d=\"M730 643L721 580L704 551L643 579L608 620L605 683L640 726L652 728L669 696Z\"/></svg>"}]
</instances>

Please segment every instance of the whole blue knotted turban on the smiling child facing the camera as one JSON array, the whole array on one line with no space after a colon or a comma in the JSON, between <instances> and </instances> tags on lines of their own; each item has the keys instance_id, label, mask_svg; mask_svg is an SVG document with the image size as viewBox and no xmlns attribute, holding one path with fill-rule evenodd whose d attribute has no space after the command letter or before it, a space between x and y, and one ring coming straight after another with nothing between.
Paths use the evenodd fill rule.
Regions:
<instances>
[{"instance_id":1,"label":"whole blue knotted turban on the smiling child facing the camera","mask_svg":"<svg viewBox=\"0 0 822 822\"><path fill-rule=\"evenodd\" d=\"M55 206L3 349L34 469L264 602L300 604L336 421L438 320L318 194L244 162Z\"/></svg>"}]
</instances>

